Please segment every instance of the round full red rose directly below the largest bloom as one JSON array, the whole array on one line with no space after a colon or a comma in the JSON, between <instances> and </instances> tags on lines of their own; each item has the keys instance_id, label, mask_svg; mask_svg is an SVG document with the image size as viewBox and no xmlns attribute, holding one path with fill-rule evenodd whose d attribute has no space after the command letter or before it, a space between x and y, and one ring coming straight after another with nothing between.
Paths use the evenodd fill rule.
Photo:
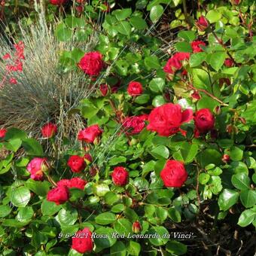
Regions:
<instances>
[{"instance_id":1,"label":"round full red rose directly below the largest bloom","mask_svg":"<svg viewBox=\"0 0 256 256\"><path fill-rule=\"evenodd\" d=\"M160 172L160 177L166 187L181 187L187 180L187 172L184 164L176 160L167 160Z\"/></svg>"}]
</instances>

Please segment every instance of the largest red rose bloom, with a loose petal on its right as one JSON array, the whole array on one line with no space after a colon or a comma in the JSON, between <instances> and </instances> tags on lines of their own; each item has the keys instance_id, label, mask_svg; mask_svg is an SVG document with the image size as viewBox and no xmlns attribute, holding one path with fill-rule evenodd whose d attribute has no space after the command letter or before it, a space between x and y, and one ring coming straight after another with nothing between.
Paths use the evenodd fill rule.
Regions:
<instances>
[{"instance_id":1,"label":"largest red rose bloom, with a loose petal on its right","mask_svg":"<svg viewBox=\"0 0 256 256\"><path fill-rule=\"evenodd\" d=\"M182 123L193 119L193 111L186 109L181 111L178 104L166 103L154 108L148 116L148 130L157 132L160 136L171 136L178 133Z\"/></svg>"}]
</instances>

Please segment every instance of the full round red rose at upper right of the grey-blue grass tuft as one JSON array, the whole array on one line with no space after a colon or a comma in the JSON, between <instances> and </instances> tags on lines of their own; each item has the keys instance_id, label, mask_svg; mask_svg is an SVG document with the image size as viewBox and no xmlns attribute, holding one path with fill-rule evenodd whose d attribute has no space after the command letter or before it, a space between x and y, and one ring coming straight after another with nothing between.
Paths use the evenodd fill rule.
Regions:
<instances>
[{"instance_id":1,"label":"full round red rose at upper right of the grey-blue grass tuft","mask_svg":"<svg viewBox=\"0 0 256 256\"><path fill-rule=\"evenodd\" d=\"M80 62L78 63L78 66L87 75L99 75L99 73L102 71L104 67L102 54L98 51L85 53L83 58L81 58Z\"/></svg>"}]
</instances>

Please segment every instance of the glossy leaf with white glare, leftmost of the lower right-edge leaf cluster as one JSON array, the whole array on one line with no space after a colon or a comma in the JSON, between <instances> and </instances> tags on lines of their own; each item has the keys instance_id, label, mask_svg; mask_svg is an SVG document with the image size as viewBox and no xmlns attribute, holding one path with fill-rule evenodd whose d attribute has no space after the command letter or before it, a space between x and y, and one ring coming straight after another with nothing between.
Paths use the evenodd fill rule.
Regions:
<instances>
[{"instance_id":1,"label":"glossy leaf with white glare, leftmost of the lower right-edge leaf cluster","mask_svg":"<svg viewBox=\"0 0 256 256\"><path fill-rule=\"evenodd\" d=\"M218 197L218 206L220 206L221 211L227 211L237 202L238 198L238 192L225 188Z\"/></svg>"}]
</instances>

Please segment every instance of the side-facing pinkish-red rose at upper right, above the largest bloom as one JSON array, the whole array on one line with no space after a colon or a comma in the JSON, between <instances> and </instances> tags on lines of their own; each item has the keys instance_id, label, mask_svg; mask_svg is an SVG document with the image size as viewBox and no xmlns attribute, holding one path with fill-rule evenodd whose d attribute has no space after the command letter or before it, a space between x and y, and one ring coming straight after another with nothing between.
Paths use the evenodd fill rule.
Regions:
<instances>
[{"instance_id":1,"label":"side-facing pinkish-red rose at upper right, above the largest bloom","mask_svg":"<svg viewBox=\"0 0 256 256\"><path fill-rule=\"evenodd\" d=\"M168 59L163 71L169 74L174 74L182 68L182 61L190 58L190 53L175 53L172 58Z\"/></svg>"}]
</instances>

